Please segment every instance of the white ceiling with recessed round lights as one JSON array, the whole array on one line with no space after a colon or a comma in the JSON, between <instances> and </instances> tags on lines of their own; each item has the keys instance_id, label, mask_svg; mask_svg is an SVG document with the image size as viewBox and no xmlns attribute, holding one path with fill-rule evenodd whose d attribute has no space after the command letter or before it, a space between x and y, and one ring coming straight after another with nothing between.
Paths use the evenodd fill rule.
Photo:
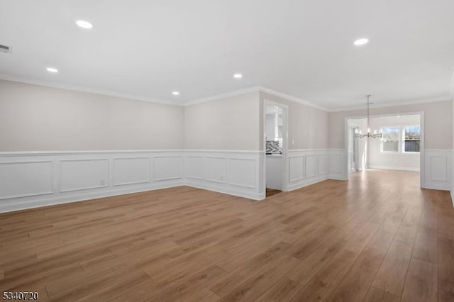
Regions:
<instances>
[{"instance_id":1,"label":"white ceiling with recessed round lights","mask_svg":"<svg viewBox=\"0 0 454 302\"><path fill-rule=\"evenodd\" d=\"M453 0L2 0L13 53L0 52L0 74L181 104L250 86L325 108L365 94L448 99L453 11Z\"/></svg>"}]
</instances>

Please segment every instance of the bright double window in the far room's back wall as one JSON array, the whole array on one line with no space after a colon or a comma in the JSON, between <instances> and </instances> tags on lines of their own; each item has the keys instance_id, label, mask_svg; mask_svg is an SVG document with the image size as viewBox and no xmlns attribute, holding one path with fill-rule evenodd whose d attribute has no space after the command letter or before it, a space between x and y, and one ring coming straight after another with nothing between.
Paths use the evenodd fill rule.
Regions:
<instances>
[{"instance_id":1,"label":"bright double window in the far room's back wall","mask_svg":"<svg viewBox=\"0 0 454 302\"><path fill-rule=\"evenodd\" d=\"M382 152L419 152L421 127L419 125L403 125L382 128Z\"/></svg>"}]
</instances>

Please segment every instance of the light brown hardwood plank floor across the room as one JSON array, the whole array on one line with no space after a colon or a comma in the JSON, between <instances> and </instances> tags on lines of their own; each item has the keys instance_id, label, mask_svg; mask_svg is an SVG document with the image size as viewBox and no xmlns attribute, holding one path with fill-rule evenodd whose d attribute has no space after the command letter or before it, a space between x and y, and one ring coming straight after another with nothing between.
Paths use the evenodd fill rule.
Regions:
<instances>
[{"instance_id":1,"label":"light brown hardwood plank floor across the room","mask_svg":"<svg viewBox=\"0 0 454 302\"><path fill-rule=\"evenodd\" d=\"M40 301L454 301L453 204L416 172L4 213L0 242L1 291Z\"/></svg>"}]
</instances>

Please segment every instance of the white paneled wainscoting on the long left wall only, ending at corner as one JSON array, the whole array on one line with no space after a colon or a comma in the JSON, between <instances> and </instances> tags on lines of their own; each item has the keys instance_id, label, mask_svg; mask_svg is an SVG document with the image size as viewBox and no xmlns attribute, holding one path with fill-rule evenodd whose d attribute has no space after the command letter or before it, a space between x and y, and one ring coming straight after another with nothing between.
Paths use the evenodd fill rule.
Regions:
<instances>
[{"instance_id":1,"label":"white paneled wainscoting on the long left wall only, ending at corner","mask_svg":"<svg viewBox=\"0 0 454 302\"><path fill-rule=\"evenodd\" d=\"M1 152L0 213L182 186L183 158L181 150Z\"/></svg>"}]
</instances>

